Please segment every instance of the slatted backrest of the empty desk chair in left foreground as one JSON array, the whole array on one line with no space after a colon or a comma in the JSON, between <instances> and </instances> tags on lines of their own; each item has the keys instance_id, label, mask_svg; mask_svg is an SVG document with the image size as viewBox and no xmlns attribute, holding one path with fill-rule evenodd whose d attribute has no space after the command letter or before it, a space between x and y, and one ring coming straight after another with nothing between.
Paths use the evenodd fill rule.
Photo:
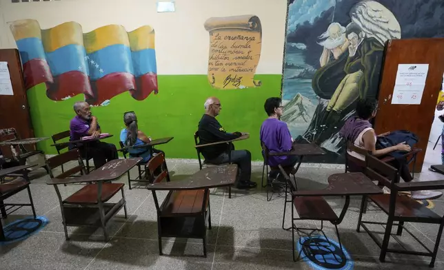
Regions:
<instances>
[{"instance_id":1,"label":"slatted backrest of the empty desk chair in left foreground","mask_svg":"<svg viewBox=\"0 0 444 270\"><path fill-rule=\"evenodd\" d=\"M76 160L78 162L77 166L74 166L71 169L65 170L65 172L63 173L54 176L52 169L55 169L61 165L65 165L70 161ZM78 172L80 172L81 174L85 174L85 167L83 166L83 161L81 159L79 149L77 148L48 158L46 160L46 166L48 167L48 172L50 172L51 178L67 178L73 176L74 174L77 174Z\"/></svg>"}]
</instances>

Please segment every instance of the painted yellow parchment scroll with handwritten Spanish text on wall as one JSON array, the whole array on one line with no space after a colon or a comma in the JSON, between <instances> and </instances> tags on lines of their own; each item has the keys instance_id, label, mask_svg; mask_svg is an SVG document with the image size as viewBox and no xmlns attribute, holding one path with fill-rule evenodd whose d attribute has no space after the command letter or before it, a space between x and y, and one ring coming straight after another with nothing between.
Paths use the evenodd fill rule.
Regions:
<instances>
[{"instance_id":1,"label":"painted yellow parchment scroll with handwritten Spanish text on wall","mask_svg":"<svg viewBox=\"0 0 444 270\"><path fill-rule=\"evenodd\" d=\"M210 18L208 81L216 89L261 86L254 73L261 57L262 26L259 17L242 15Z\"/></svg>"}]
</instances>

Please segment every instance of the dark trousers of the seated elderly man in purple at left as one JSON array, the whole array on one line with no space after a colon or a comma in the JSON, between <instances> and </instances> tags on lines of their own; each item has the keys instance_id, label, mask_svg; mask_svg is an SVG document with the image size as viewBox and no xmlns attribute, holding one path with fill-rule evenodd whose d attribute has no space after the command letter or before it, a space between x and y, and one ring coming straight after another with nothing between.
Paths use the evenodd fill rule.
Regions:
<instances>
[{"instance_id":1,"label":"dark trousers of the seated elderly man in purple at left","mask_svg":"<svg viewBox=\"0 0 444 270\"><path fill-rule=\"evenodd\" d=\"M110 160L119 158L117 155L117 148L112 143L95 141L88 143L87 147L83 145L79 149L83 158L85 158L86 154L88 154L88 158L92 158L92 160L94 160L94 166L96 168L102 167Z\"/></svg>"}]
</instances>

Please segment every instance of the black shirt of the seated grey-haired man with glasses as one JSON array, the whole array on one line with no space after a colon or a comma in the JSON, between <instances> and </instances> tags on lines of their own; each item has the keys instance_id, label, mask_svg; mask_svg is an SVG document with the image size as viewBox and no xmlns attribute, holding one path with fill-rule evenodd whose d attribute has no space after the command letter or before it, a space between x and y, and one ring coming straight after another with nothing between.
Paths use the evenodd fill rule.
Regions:
<instances>
[{"instance_id":1,"label":"black shirt of the seated grey-haired man with glasses","mask_svg":"<svg viewBox=\"0 0 444 270\"><path fill-rule=\"evenodd\" d=\"M241 136L239 132L225 132L225 129L223 129L219 121L208 114L203 114L201 121L199 121L197 132L199 134L199 144L201 145L207 143L216 143L220 141L230 141ZM230 145L228 145L228 143L211 145L207 147L202 147L201 152L205 159L212 160L220 156L222 153L230 151L229 146Z\"/></svg>"}]
</instances>

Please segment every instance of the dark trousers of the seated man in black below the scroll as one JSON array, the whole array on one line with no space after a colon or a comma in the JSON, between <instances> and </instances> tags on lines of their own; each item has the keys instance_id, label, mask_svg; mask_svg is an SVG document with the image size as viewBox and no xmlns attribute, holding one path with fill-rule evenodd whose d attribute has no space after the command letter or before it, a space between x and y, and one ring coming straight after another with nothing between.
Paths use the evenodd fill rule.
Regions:
<instances>
[{"instance_id":1,"label":"dark trousers of the seated man in black below the scroll","mask_svg":"<svg viewBox=\"0 0 444 270\"><path fill-rule=\"evenodd\" d=\"M208 160L212 164L222 163L237 164L239 166L238 179L240 182L248 183L251 179L251 153L248 150L231 150L231 160L228 152L220 154L218 157Z\"/></svg>"}]
</instances>

